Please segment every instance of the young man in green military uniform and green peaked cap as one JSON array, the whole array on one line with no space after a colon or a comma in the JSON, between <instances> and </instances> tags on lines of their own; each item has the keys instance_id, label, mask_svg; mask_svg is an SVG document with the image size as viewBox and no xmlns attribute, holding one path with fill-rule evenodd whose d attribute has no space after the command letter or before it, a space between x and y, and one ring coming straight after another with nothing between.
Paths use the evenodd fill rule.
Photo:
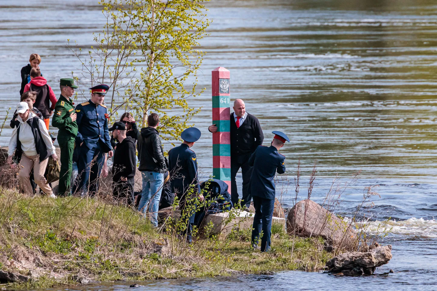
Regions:
<instances>
[{"instance_id":1,"label":"young man in green military uniform and green peaked cap","mask_svg":"<svg viewBox=\"0 0 437 291\"><path fill-rule=\"evenodd\" d=\"M59 82L61 97L56 102L52 126L59 128L58 143L61 149L61 169L59 172L58 195L70 195L70 180L73 170L74 139L77 135L76 113L71 97L78 88L73 79L62 78Z\"/></svg>"}]
</instances>

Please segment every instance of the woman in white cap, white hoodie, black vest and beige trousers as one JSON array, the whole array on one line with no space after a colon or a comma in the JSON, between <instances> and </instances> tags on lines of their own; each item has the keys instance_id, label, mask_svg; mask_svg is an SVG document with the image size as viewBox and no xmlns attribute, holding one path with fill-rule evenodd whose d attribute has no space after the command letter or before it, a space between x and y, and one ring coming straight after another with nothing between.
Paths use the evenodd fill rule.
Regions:
<instances>
[{"instance_id":1,"label":"woman in white cap, white hoodie, black vest and beige trousers","mask_svg":"<svg viewBox=\"0 0 437 291\"><path fill-rule=\"evenodd\" d=\"M45 123L29 110L26 102L18 103L17 113L17 121L20 122L20 125L14 128L9 141L7 152L9 164L11 168L14 168L20 163L18 177L20 178L21 190L24 193L33 193L29 180L29 174L33 168L35 183L45 194L55 197L52 188L44 178L49 156L55 160L58 158Z\"/></svg>"}]
</instances>

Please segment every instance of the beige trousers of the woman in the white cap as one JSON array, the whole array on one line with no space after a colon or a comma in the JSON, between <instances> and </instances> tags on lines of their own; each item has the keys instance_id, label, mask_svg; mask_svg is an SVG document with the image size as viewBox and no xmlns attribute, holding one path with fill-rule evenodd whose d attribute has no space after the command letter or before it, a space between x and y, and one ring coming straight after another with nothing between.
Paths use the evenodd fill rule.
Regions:
<instances>
[{"instance_id":1,"label":"beige trousers of the woman in the white cap","mask_svg":"<svg viewBox=\"0 0 437 291\"><path fill-rule=\"evenodd\" d=\"M52 188L50 188L49 184L44 178L45 168L49 159L43 160L39 163L39 156L26 156L24 153L21 155L20 161L20 173L18 173L18 177L20 178L20 187L24 193L33 195L32 185L30 184L29 175L33 168L33 177L35 179L35 183L39 186L39 188L47 195L53 193Z\"/></svg>"}]
</instances>

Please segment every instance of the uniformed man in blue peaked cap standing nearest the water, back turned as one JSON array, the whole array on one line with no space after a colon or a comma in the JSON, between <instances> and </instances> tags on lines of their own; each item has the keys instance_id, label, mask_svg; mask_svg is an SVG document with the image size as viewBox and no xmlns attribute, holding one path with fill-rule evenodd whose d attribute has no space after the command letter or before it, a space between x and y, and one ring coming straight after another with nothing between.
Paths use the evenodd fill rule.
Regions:
<instances>
[{"instance_id":1,"label":"uniformed man in blue peaked cap standing nearest the water, back turned","mask_svg":"<svg viewBox=\"0 0 437 291\"><path fill-rule=\"evenodd\" d=\"M259 145L250 156L249 165L253 166L250 176L250 191L252 193L255 215L253 216L252 247L258 247L261 229L261 252L270 250L270 236L272 228L272 217L275 197L274 176L285 173L285 156L278 150L284 143L290 142L283 132L272 132L274 134L271 146Z\"/></svg>"}]
</instances>

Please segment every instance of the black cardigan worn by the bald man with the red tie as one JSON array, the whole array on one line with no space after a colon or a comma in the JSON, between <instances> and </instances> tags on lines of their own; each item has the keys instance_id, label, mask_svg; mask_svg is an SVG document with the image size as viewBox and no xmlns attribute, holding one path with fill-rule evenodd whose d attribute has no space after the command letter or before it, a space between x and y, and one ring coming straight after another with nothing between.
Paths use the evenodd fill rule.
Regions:
<instances>
[{"instance_id":1,"label":"black cardigan worn by the bald man with the red tie","mask_svg":"<svg viewBox=\"0 0 437 291\"><path fill-rule=\"evenodd\" d=\"M234 113L231 113L231 156L246 155L263 144L264 134L260 121L252 114L247 114L243 124L237 128Z\"/></svg>"}]
</instances>

